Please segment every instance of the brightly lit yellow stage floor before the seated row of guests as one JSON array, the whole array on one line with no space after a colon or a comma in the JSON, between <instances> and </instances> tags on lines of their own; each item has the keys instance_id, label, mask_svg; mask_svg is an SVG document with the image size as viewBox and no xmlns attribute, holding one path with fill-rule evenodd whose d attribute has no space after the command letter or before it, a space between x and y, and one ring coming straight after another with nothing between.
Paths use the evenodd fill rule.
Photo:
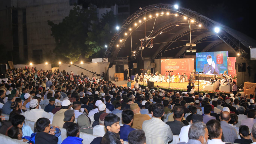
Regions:
<instances>
[{"instance_id":1,"label":"brightly lit yellow stage floor before the seated row of guests","mask_svg":"<svg viewBox=\"0 0 256 144\"><path fill-rule=\"evenodd\" d=\"M132 88L134 87L134 84L135 84L135 82L131 83ZM139 82L139 84L147 86L146 82L144 82L144 84L143 84L143 82ZM195 91L198 91L198 81L196 80L194 84L195 84ZM168 82L163 82L163 83L154 82L154 88L156 88L157 85L159 86L159 88L169 89L169 83ZM177 89L177 90L187 91L187 85L188 85L188 82L184 82L184 83L172 83L171 82L170 83L171 89L174 89L174 90ZM205 84L203 82L199 81L199 91L203 91L203 86L204 85ZM127 86L127 84L123 84L122 86Z\"/></svg>"}]
</instances>

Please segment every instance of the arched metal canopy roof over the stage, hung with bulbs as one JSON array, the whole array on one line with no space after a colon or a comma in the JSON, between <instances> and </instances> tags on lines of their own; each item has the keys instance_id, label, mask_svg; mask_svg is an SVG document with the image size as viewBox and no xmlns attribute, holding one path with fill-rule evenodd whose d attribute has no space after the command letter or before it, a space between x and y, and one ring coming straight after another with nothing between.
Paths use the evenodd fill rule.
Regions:
<instances>
[{"instance_id":1,"label":"arched metal canopy roof over the stage, hung with bulbs","mask_svg":"<svg viewBox=\"0 0 256 144\"><path fill-rule=\"evenodd\" d=\"M146 23L147 21L150 20L154 20L154 19L158 19L156 17L159 16L153 16L152 18L148 18L146 21L144 20L140 25L138 24L137 27L132 28L132 31L129 31L128 29L131 28L132 24L135 23L135 21L137 22L138 20L143 20L143 17L145 17L145 15L149 15L151 12L153 11L159 11L159 12L169 12L170 14L178 14L179 17L181 16L181 19L176 18L173 19L172 21L163 21L162 23L159 23L157 26L155 26L155 28L153 28L153 30L151 31L151 29L148 31L146 31L146 33L150 33L151 31L151 35L150 36L156 36L156 38L159 36L159 34L161 32L163 32L165 29L167 28L172 28L173 26L177 26L177 25L182 25L184 23L188 23L188 20L184 20L182 19L183 17L186 17L190 20L194 20L196 21L197 24L202 25L202 27L197 27L196 25L191 25L191 35L198 34L200 31L205 31L205 32L201 32L199 35L195 35L194 38L191 38L191 43L203 43L204 40L208 39L208 45L205 45L205 48L202 51L207 51L208 49L211 49L213 46L220 44L220 43L226 43L228 44L228 46L231 48L231 50L235 53L240 53L241 56L245 56L247 53L249 53L249 46L252 39L246 37L245 35L243 35L243 37L239 37L241 33L228 28L220 23L217 23L205 16L203 16L202 14L199 14L195 11L191 11L189 9L186 8L182 8L179 7L178 9L175 9L174 5L171 4L153 4L153 5L149 5L146 7L143 7L142 10L138 10L137 12L133 13L127 20L125 20L122 24L122 27L120 27L120 29L114 34L114 36L112 37L108 48L106 50L106 52L103 55L102 58L102 62L105 62L106 59L109 57L109 53L111 53L111 57L112 58L116 58L118 52L122 49L122 47L124 47L126 45L126 40L130 39L130 36L136 36L138 34L138 29L140 29L140 27L143 27L145 29L145 27L147 28L146 25L144 25L144 23ZM165 14L166 15L166 14ZM155 20L156 22L156 20ZM153 22L152 22L153 23ZM151 24L152 24L151 23ZM148 24L148 23L147 23ZM220 27L220 32L219 33L215 33L214 32L214 28L215 27ZM176 28L177 29L177 28ZM124 33L127 33L126 36L124 36ZM139 31L140 33L143 33L142 30ZM145 31L144 31L145 32ZM167 48L173 47L172 43L175 41L179 41L181 37L185 37L189 35L189 28L188 27L183 27L180 29L177 29L175 31L175 34L173 34L172 36L168 36L165 39L165 42L162 44L159 44L159 47L157 49L154 49L154 54L151 57L151 59L156 59L157 56L159 56L159 54L161 52L165 52L167 50ZM239 36L238 36L239 35ZM131 37L132 37L131 36ZM142 35L141 35L142 36ZM149 37L149 36L147 36ZM215 37L215 38L213 38ZM216 39L217 37L217 39ZM247 38L250 39L250 42L243 40L243 38ZM140 38L145 38L144 37L140 37ZM156 39L155 38L155 39ZM213 38L213 40L209 40ZM122 42L119 41L119 39L122 39ZM132 39L132 38L131 38ZM215 39L215 40L214 40ZM136 45L136 52L139 50L139 46L140 43L139 38L137 40L135 40L135 42L133 41L133 43L135 43ZM146 44L148 44L145 41L143 41L143 44L146 46ZM255 44L255 43L253 43ZM118 45L118 47L116 46ZM131 44L131 46L134 46L134 44ZM177 48L177 47L175 47ZM126 49L126 48L125 48ZM128 49L128 48L127 48ZM129 48L130 49L130 48ZM179 52L177 52L176 56L177 58L180 58L181 55L183 55L186 50L188 49L188 46L179 46ZM136 53L135 57L138 55L138 53ZM109 60L109 62L113 62L114 60Z\"/></svg>"}]
</instances>

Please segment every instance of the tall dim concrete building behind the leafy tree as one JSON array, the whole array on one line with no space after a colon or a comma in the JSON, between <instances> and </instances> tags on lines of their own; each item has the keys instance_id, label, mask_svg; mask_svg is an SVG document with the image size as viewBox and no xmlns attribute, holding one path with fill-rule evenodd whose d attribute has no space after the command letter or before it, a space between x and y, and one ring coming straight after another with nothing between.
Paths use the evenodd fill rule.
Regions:
<instances>
[{"instance_id":1,"label":"tall dim concrete building behind the leafy tree","mask_svg":"<svg viewBox=\"0 0 256 144\"><path fill-rule=\"evenodd\" d=\"M93 3L84 0L1 0L0 42L1 52L5 52L5 57L1 58L2 63L44 63L54 60L55 39L51 36L51 27L47 21L58 24L68 16L74 4L87 9ZM119 14L117 4L105 7L94 4L93 7L97 8L99 19L106 11ZM129 4L126 5L126 11L120 14L128 17L129 8Z\"/></svg>"}]
</instances>

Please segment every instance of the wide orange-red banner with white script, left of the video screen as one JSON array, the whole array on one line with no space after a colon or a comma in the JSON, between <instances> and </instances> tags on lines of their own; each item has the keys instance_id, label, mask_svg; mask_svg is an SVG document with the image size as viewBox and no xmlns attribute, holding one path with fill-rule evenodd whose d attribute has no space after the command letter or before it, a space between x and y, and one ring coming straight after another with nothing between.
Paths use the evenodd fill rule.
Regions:
<instances>
[{"instance_id":1,"label":"wide orange-red banner with white script, left of the video screen","mask_svg":"<svg viewBox=\"0 0 256 144\"><path fill-rule=\"evenodd\" d=\"M194 59L161 59L161 74L166 71L174 73L186 73L187 76L194 70ZM167 73L166 73L167 74Z\"/></svg>"}]
</instances>

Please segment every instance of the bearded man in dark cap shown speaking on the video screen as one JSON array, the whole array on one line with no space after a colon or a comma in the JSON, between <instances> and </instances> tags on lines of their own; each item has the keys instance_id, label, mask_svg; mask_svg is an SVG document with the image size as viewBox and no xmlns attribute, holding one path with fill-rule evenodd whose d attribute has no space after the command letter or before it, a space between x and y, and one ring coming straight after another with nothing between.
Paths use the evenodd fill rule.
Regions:
<instances>
[{"instance_id":1,"label":"bearded man in dark cap shown speaking on the video screen","mask_svg":"<svg viewBox=\"0 0 256 144\"><path fill-rule=\"evenodd\" d=\"M215 62L212 60L212 56L210 54L207 55L206 60L207 60L207 64L204 65L203 72L206 75L220 74L220 71L219 71L218 67L216 66Z\"/></svg>"}]
</instances>

